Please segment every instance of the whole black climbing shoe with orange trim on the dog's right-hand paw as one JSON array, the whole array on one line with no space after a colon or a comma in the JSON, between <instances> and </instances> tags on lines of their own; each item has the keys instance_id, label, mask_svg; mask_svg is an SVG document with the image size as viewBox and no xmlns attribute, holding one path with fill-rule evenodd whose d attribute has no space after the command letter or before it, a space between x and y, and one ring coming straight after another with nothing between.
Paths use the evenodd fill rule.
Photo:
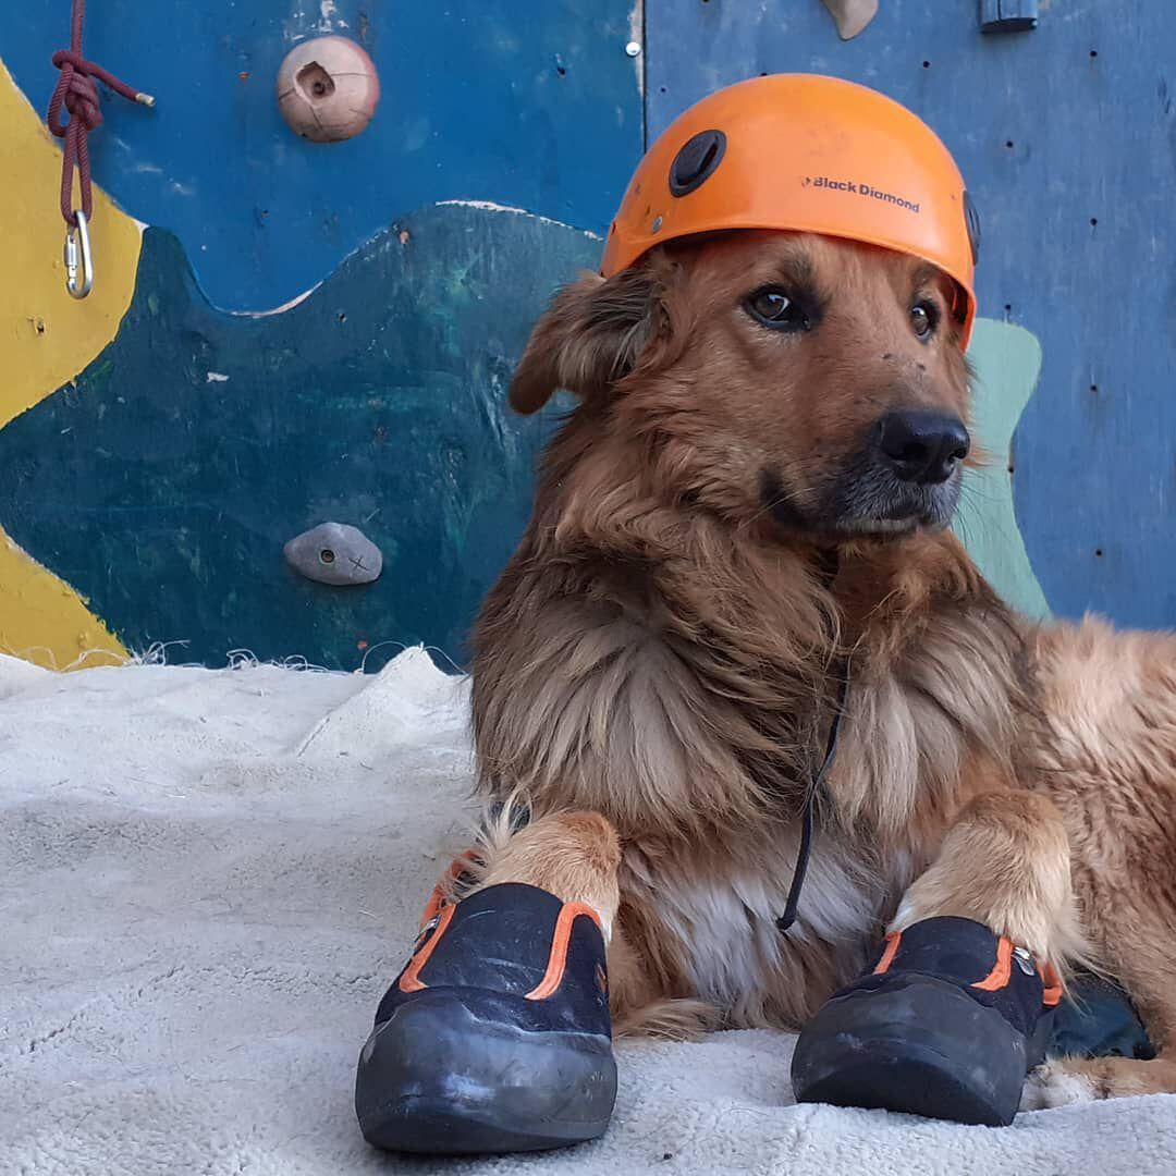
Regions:
<instances>
[{"instance_id":1,"label":"whole black climbing shoe with orange trim on the dog's right-hand paw","mask_svg":"<svg viewBox=\"0 0 1176 1176\"><path fill-rule=\"evenodd\" d=\"M1007 1127L1061 997L1048 980L1024 948L970 918L891 933L801 1033L796 1101Z\"/></svg>"}]
</instances>

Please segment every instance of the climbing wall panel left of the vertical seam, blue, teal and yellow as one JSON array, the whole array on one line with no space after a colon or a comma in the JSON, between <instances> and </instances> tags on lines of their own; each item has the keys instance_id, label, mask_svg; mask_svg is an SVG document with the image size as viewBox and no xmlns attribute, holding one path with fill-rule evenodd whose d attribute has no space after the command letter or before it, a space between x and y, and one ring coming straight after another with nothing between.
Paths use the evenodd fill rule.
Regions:
<instances>
[{"instance_id":1,"label":"climbing wall panel left of the vertical seam, blue, teal and yellow","mask_svg":"<svg viewBox=\"0 0 1176 1176\"><path fill-rule=\"evenodd\" d=\"M0 648L370 670L423 641L460 661L550 427L506 412L510 369L555 286L595 266L641 153L634 21L629 0L91 0L86 55L156 105L103 92L85 302L62 289L36 113L68 0L12 22ZM286 53L323 34L382 83L346 142L298 138L274 98ZM377 544L377 581L286 566L326 520Z\"/></svg>"}]
</instances>

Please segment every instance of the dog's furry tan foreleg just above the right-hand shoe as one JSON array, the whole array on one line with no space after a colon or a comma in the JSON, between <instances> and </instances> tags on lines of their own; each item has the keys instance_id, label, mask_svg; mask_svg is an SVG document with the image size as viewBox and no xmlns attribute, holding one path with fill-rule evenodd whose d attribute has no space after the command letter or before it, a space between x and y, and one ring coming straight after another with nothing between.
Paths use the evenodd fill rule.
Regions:
<instances>
[{"instance_id":1,"label":"dog's furry tan foreleg just above the right-hand shoe","mask_svg":"<svg viewBox=\"0 0 1176 1176\"><path fill-rule=\"evenodd\" d=\"M903 895L890 929L937 915L983 923L1060 973L1085 951L1062 815L1045 796L983 793L961 810L938 856Z\"/></svg>"}]
</instances>

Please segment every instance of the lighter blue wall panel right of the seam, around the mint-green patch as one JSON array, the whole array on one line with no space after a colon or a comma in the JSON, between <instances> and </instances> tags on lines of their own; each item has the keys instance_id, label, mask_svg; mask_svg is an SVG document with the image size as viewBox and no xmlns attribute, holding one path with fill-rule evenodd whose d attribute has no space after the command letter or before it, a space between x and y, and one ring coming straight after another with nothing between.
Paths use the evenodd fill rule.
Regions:
<instances>
[{"instance_id":1,"label":"lighter blue wall panel right of the seam, around the mint-green patch","mask_svg":"<svg viewBox=\"0 0 1176 1176\"><path fill-rule=\"evenodd\" d=\"M842 42L817 0L646 0L650 135L760 72L840 74L917 111L983 221L980 312L1044 362L1015 501L1051 608L1176 624L1176 6L1042 4L985 36L976 0L882 0Z\"/></svg>"}]
</instances>

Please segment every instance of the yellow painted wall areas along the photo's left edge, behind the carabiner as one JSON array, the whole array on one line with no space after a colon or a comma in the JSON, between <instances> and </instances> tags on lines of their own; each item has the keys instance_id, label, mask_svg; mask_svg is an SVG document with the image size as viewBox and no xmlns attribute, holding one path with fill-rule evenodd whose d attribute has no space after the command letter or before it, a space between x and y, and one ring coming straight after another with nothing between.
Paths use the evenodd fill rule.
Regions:
<instances>
[{"instance_id":1,"label":"yellow painted wall areas along the photo's left edge, behind the carabiner","mask_svg":"<svg viewBox=\"0 0 1176 1176\"><path fill-rule=\"evenodd\" d=\"M61 153L0 61L0 428L73 380L114 338L131 305L141 226L94 188L94 289L65 288L58 208ZM122 660L126 650L67 583L0 529L0 652L65 668Z\"/></svg>"}]
</instances>

